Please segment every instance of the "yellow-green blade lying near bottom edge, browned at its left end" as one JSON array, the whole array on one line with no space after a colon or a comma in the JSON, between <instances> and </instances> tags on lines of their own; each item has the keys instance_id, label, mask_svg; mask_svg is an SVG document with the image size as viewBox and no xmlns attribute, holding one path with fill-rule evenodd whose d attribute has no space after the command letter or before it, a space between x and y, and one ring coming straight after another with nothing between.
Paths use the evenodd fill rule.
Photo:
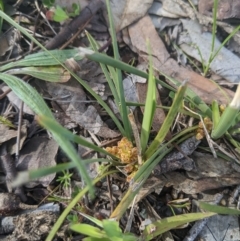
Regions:
<instances>
[{"instance_id":1,"label":"yellow-green blade lying near bottom edge, browned at its left end","mask_svg":"<svg viewBox=\"0 0 240 241\"><path fill-rule=\"evenodd\" d=\"M171 229L177 228L183 224L194 222L203 218L208 218L213 215L216 215L213 212L207 213L188 213L181 214L177 216L173 216L170 218L163 218L159 221L156 221L150 225L148 225L143 231L142 238L143 240L152 240L154 237L165 233Z\"/></svg>"}]
</instances>

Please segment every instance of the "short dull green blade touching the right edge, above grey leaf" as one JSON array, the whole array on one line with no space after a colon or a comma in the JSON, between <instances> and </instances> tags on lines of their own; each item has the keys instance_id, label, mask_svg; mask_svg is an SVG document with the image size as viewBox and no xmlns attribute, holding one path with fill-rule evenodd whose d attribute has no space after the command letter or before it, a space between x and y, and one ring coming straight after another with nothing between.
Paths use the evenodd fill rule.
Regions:
<instances>
[{"instance_id":1,"label":"short dull green blade touching the right edge, above grey leaf","mask_svg":"<svg viewBox=\"0 0 240 241\"><path fill-rule=\"evenodd\" d=\"M205 202L199 202L199 207L206 211L214 212L218 214L240 215L240 210L238 209L227 208L227 207L223 207L215 204L209 204Z\"/></svg>"}]
</instances>

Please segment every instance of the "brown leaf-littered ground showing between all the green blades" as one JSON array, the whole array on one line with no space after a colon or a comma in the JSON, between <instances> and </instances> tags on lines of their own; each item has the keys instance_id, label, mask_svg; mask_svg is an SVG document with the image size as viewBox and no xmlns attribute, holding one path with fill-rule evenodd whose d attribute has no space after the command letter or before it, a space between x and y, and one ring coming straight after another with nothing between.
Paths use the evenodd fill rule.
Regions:
<instances>
[{"instance_id":1,"label":"brown leaf-littered ground showing between all the green blades","mask_svg":"<svg viewBox=\"0 0 240 241\"><path fill-rule=\"evenodd\" d=\"M61 19L66 15L66 11L73 12L72 1L56 3L61 8L68 9L62 10L63 13L56 10L56 5L55 8L49 8L42 6L42 1L33 3L28 0L17 3L7 1L4 12L49 50L89 47L85 34L87 30L98 41L100 51L112 56L113 47L108 31L105 4L102 1L79 0L76 2L80 3L81 11L80 17L76 17L74 21L72 17ZM146 44L148 39L153 56L154 75L163 83L176 89L176 83L170 81L170 78L177 79L180 84L188 81L188 87L207 105L211 105L213 100L223 105L231 101L240 76L240 36L239 32L236 32L225 46L220 48L219 53L211 59L211 64L208 66L214 38L212 35L213 1L199 0L199 2L192 1L192 4L182 0L112 2L112 15L122 61L148 72L149 51ZM75 12L75 15L78 16L78 13ZM239 24L239 2L219 1L216 17L214 53ZM0 41L0 66L40 51L35 44L6 21L2 25ZM42 61L45 60L42 59ZM119 112L112 98L113 94L99 64L83 59L77 62L69 61L67 66L89 84L110 108L115 108L114 113L119 118ZM50 70L38 66L39 69L40 73L46 72L44 77L36 74L29 75L26 69L22 72L19 72L19 69L16 71L18 71L18 77L30 83L41 94L57 121L100 147L117 147L122 135L92 95L74 78L70 78L70 74L62 68L54 72L57 78L54 81ZM33 72L32 69L29 71ZM8 73L14 74L10 70ZM123 72L123 77L126 101L145 103L146 79L126 72ZM3 82L0 87L1 117L7 118L12 123L11 126L6 119L0 122L0 170L3 180L0 186L1 238L3 240L45 240L61 211L84 184L78 172L71 170L40 177L21 187L12 187L11 183L19 171L55 166L68 162L69 159L60 150L57 142L38 125L34 119L35 113L26 105L22 108L20 99ZM157 105L171 106L171 94L165 85L158 84ZM180 113L166 140L171 139L184 128L201 122L194 115L197 108L192 107L187 100L185 103L188 109L192 108L193 117ZM132 107L132 111L136 126L140 130L144 107ZM150 142L156 136L166 115L165 109L156 109ZM209 124L207 121L204 123L206 127ZM209 125L211 132L212 124ZM203 127L200 128L201 131L199 128L198 134L201 131L204 133ZM238 130L237 127L236 130ZM233 137L238 143L238 132ZM82 159L99 158L99 153L90 152L81 145L74 147ZM217 154L222 153L217 158L214 158L209 150L209 142L205 134L201 138L196 138L194 134L172 147L170 154L156 166L140 189L134 200L133 212L128 209L124 213L120 220L122 230L126 229L140 236L145 226L151 222L173 214L196 212L199 208L196 201L221 203L223 206L234 208L238 205L240 159L238 148L233 142L230 143L228 138L217 140L214 149ZM124 162L123 158L122 162ZM95 178L99 174L99 164L89 164L87 170L90 177ZM77 217L79 222L88 222L80 215L80 210L100 220L111 216L129 188L129 182L126 180L130 174L121 167L119 170L122 172L111 175L96 185L94 200L85 197L79 201L77 208L73 209L71 216L64 222L55 240L82 239L79 234L71 233L67 226L73 217ZM56 204L54 205L51 201ZM43 203L50 204L42 206ZM40 205L41 208L32 205ZM129 221L131 218L132 223ZM201 231L201 233L196 239L194 235L188 233L192 227L188 224L182 228L167 231L156 240L240 240L238 219L235 216L214 216L206 223L202 231L197 228L196 232Z\"/></svg>"}]
</instances>

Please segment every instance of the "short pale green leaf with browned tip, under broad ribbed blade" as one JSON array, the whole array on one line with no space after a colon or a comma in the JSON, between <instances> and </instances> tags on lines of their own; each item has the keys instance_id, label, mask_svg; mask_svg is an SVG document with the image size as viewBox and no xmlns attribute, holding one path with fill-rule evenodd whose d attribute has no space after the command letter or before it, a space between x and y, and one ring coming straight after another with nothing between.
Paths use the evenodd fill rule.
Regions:
<instances>
[{"instance_id":1,"label":"short pale green leaf with browned tip, under broad ribbed blade","mask_svg":"<svg viewBox=\"0 0 240 241\"><path fill-rule=\"evenodd\" d=\"M32 77L46 80L49 82L67 82L71 75L68 71L65 70L62 66L51 66L51 67L25 67L25 68L18 68L18 69L10 69L7 74L27 74L31 75Z\"/></svg>"}]
</instances>

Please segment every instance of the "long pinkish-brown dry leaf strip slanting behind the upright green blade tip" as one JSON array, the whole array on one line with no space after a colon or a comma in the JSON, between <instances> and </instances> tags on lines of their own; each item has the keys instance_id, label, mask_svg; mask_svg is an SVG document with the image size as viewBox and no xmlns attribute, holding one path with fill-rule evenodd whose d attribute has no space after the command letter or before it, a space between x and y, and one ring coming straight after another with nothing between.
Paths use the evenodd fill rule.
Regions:
<instances>
[{"instance_id":1,"label":"long pinkish-brown dry leaf strip slanting behind the upright green blade tip","mask_svg":"<svg viewBox=\"0 0 240 241\"><path fill-rule=\"evenodd\" d=\"M189 87L206 103L210 104L214 99L220 103L228 103L228 98L222 94L216 84L193 71L179 66L174 59L170 58L149 16L140 19L137 23L131 25L128 30L132 45L145 61L148 61L146 39L150 40L153 66L157 71L163 72L181 82L189 80ZM225 88L222 89L229 97L233 97L232 91Z\"/></svg>"}]
</instances>

